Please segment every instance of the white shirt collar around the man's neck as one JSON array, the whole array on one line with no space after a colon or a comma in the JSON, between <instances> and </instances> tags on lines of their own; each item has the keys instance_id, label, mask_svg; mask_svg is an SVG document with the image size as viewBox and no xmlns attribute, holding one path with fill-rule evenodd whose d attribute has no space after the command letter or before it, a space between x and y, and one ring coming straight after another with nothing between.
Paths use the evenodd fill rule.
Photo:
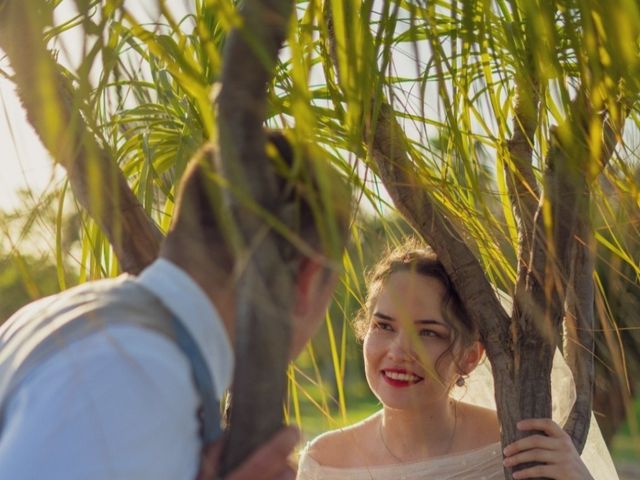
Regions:
<instances>
[{"instance_id":1,"label":"white shirt collar around the man's neck","mask_svg":"<svg viewBox=\"0 0 640 480\"><path fill-rule=\"evenodd\" d=\"M215 305L181 268L159 258L137 281L177 316L193 336L213 377L218 399L231 384L233 350Z\"/></svg>"}]
</instances>

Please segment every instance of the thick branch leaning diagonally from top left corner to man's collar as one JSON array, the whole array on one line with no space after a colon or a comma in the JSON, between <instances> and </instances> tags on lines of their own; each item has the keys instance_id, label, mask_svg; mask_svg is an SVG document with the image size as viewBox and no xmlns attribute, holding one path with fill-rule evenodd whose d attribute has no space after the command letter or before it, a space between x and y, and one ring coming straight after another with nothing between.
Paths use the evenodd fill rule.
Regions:
<instances>
[{"instance_id":1,"label":"thick branch leaning diagonally from top left corner to man's collar","mask_svg":"<svg viewBox=\"0 0 640 480\"><path fill-rule=\"evenodd\" d=\"M0 48L15 72L29 122L66 169L74 194L107 236L122 270L137 273L157 257L162 234L84 122L71 82L42 41L41 3L2 4Z\"/></svg>"}]
</instances>

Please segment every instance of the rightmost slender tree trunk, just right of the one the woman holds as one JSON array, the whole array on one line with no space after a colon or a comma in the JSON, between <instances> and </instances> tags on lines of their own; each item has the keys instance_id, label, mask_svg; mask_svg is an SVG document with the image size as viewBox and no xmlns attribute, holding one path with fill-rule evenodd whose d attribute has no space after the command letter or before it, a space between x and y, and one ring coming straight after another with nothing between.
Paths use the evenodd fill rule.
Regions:
<instances>
[{"instance_id":1,"label":"rightmost slender tree trunk, just right of the one the woman holds","mask_svg":"<svg viewBox=\"0 0 640 480\"><path fill-rule=\"evenodd\" d=\"M606 113L591 112L588 96L579 92L570 117L558 127L545 172L545 190L551 205L550 255L536 277L546 287L551 321L565 322L565 356L576 384L577 399L565 424L576 448L582 451L589 431L594 382L593 328L595 254L590 222L590 183L611 158L618 132ZM600 153L591 165L589 125L601 121ZM597 172L597 173L593 173ZM542 215L539 215L542 228ZM532 261L535 266L535 263ZM540 268L539 266L537 268Z\"/></svg>"}]
</instances>

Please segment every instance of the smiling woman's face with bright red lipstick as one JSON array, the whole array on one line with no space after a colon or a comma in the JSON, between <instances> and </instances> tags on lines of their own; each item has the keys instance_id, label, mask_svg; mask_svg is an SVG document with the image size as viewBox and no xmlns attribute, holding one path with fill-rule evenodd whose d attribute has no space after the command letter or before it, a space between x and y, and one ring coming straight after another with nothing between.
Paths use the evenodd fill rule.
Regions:
<instances>
[{"instance_id":1,"label":"smiling woman's face with bright red lipstick","mask_svg":"<svg viewBox=\"0 0 640 480\"><path fill-rule=\"evenodd\" d=\"M367 381L389 408L446 401L457 378L452 328L442 315L442 283L414 272L391 274L364 338Z\"/></svg>"}]
</instances>

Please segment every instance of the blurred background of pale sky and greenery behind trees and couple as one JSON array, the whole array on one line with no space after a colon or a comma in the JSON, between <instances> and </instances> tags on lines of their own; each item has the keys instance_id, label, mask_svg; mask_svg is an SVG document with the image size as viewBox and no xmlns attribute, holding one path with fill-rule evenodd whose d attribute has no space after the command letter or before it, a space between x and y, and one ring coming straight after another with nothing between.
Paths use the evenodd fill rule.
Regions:
<instances>
[{"instance_id":1,"label":"blurred background of pale sky and greenery behind trees and couple","mask_svg":"<svg viewBox=\"0 0 640 480\"><path fill-rule=\"evenodd\" d=\"M195 71L195 80L190 81L197 80L205 86L215 82L215 55L203 47L199 29L209 28L213 40L208 41L220 48L218 36L223 37L224 25L228 28L231 22L225 8L234 2L43 3L51 7L49 39L58 61L73 72L79 85L90 90L87 100L96 112L96 128L111 142L114 157L149 214L166 229L177 179L207 136L202 127L205 115L194 106L189 87L179 74L187 71L181 62ZM367 3L344 2L345 22L357 20L349 17L349 9L355 12ZM454 51L458 41L471 50L475 48L473 42L465 43L464 37L469 34L468 29L478 26L464 23L460 2L441 3L433 12L441 29L436 33L414 24L426 13L416 13L405 2L370 3L367 27L376 34L377 42L372 55L384 69L385 88L394 99L394 109L401 112L402 125L415 142L415 151L428 158L421 167L441 189L449 208L457 210L459 219L471 225L470 231L485 242L480 254L491 259L487 263L492 265L493 280L504 288L513 277L515 253L509 233L512 219L505 208L504 179L496 160L503 140L497 132L508 128L505 125L512 115L508 107L513 95L509 75L513 74L518 54L517 49L507 48L505 35L509 28L515 28L518 19L509 18L504 12L533 12L532 24L527 28L542 31L551 25L557 30L558 44L552 50L559 58L548 57L551 47L545 42L551 42L551 37L540 37L537 52L541 64L548 62L549 71L563 72L564 77L558 74L558 78L547 72L551 83L566 83L566 90L557 87L548 94L548 127L561 115L563 102L567 101L563 93L575 91L576 82L584 74L576 71L580 66L576 52L587 48L588 35L580 37L565 27L574 20L581 25L580 15L590 15L597 20L595 24L608 26L602 27L603 32L612 37L615 31L631 53L601 46L602 56L609 56L602 60L603 64L615 66L619 62L619 69L623 70L622 65L627 62L624 68L631 68L629 58L638 56L637 33L632 28L638 26L640 19L638 5L632 1L613 2L603 11L588 1L548 2L553 6L553 21L545 27L544 22L538 22L545 13L536 10L541 8L536 6L538 2L488 2L487 8L495 12L490 17L495 21L494 35L485 33L484 38L496 42L488 50L495 58L486 59L490 71L479 75L483 65L474 67L472 62L487 51L481 49L477 55L472 51L467 56ZM484 8L482 2L467 3ZM361 158L363 151L353 148L357 126L339 108L361 102L362 92L358 90L366 91L367 85L358 82L367 80L356 78L351 90L345 90L348 94L333 98L337 94L331 81L335 79L328 78L323 70L323 62L330 54L319 40L323 34L318 11L321 2L296 5L297 22L292 26L294 33L283 52L273 89L270 124L295 124L303 132L312 132L358 191L353 241L344 258L340 288L325 325L289 370L286 415L291 423L300 425L309 439L360 420L379 407L364 379L361 347L350 324L364 298L364 273L389 245L411 234L411 228L398 216L375 173ZM420 2L416 5L423 8ZM395 17L389 11L395 12ZM573 20L563 23L572 15ZM107 17L109 22L101 23ZM356 45L349 54L353 58L347 56L353 64L347 62L346 66L357 73L366 70L358 66L358 62L362 63L358 55L364 54L357 46L362 41L357 31L367 27L363 23L357 23L357 28L354 25L345 27L347 37ZM143 28L144 35L134 26ZM437 49L425 45L429 35L443 38L439 53L453 62L445 62L446 72L438 70L432 60ZM596 35L603 36L607 37L604 33ZM583 38L585 45L577 37ZM90 57L95 45L102 50ZM547 53L543 55L544 52ZM54 166L27 121L11 74L0 51L0 322L31 300L119 273L104 236L76 204L64 170ZM456 83L465 75L466 90ZM475 96L462 95L458 90L465 90L465 95L473 91ZM430 101L434 96L439 100ZM451 101L451 111L445 100ZM311 107L307 109L305 104ZM502 106L498 108L497 104ZM454 118L450 118L452 111ZM621 476L640 479L640 131L635 105L631 111L615 160L599 181L594 208L598 240L595 278L601 294L594 352L595 408ZM460 129L452 129L451 122L457 122ZM541 158L544 142L539 142L536 148ZM490 263L494 261L495 264Z\"/></svg>"}]
</instances>

